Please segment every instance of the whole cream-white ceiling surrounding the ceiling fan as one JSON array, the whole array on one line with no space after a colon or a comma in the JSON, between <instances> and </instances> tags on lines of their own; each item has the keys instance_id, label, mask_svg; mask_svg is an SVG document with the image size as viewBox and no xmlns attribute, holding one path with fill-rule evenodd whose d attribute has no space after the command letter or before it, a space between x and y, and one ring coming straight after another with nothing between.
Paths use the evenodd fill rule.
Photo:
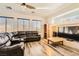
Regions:
<instances>
[{"instance_id":1,"label":"whole cream-white ceiling surrounding the ceiling fan","mask_svg":"<svg viewBox=\"0 0 79 59\"><path fill-rule=\"evenodd\" d=\"M70 3L70 4L62 4L62 3L26 3L34 6L36 9L28 9L24 6L21 6L21 3L0 3L0 10L5 10L6 6L12 7L12 10L15 12L23 13L23 14L33 14L41 17L55 17L64 12L70 11L75 8L79 8L79 4ZM6 11L6 10L5 10ZM35 12L35 13L32 13Z\"/></svg>"}]
</instances>

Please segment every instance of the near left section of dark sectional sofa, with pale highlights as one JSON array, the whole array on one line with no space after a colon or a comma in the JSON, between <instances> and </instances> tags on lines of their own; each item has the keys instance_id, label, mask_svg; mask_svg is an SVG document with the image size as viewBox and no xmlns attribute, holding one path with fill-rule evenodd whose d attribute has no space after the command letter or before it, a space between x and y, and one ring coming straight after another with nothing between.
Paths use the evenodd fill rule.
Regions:
<instances>
[{"instance_id":1,"label":"near left section of dark sectional sofa, with pale highlights","mask_svg":"<svg viewBox=\"0 0 79 59\"><path fill-rule=\"evenodd\" d=\"M12 33L0 33L0 56L23 56L21 44L12 45Z\"/></svg>"}]
</instances>

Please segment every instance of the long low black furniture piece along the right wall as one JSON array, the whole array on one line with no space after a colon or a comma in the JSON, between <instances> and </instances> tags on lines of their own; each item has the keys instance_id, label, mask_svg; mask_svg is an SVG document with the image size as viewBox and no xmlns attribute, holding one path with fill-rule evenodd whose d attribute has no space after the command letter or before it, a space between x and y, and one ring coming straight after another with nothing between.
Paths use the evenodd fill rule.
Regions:
<instances>
[{"instance_id":1,"label":"long low black furniture piece along the right wall","mask_svg":"<svg viewBox=\"0 0 79 59\"><path fill-rule=\"evenodd\" d=\"M72 41L79 41L79 34L68 34L68 33L61 33L61 32L53 32L53 36L54 37L63 37L63 38L67 38L67 40L71 39Z\"/></svg>"}]
</instances>

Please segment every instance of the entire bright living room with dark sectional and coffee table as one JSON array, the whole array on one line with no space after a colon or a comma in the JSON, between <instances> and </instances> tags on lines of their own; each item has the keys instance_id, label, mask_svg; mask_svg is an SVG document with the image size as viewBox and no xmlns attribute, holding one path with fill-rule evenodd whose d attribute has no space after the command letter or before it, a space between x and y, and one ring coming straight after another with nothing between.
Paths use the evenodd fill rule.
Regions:
<instances>
[{"instance_id":1,"label":"entire bright living room with dark sectional and coffee table","mask_svg":"<svg viewBox=\"0 0 79 59\"><path fill-rule=\"evenodd\" d=\"M78 56L78 13L79 3L0 3L0 55Z\"/></svg>"}]
</instances>

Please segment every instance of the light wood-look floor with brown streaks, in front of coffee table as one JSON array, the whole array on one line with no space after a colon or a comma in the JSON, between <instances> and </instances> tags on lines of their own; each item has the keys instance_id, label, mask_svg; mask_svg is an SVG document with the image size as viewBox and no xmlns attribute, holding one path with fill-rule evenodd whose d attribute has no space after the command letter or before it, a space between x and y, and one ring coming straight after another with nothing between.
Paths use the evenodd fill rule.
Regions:
<instances>
[{"instance_id":1,"label":"light wood-look floor with brown streaks, in front of coffee table","mask_svg":"<svg viewBox=\"0 0 79 59\"><path fill-rule=\"evenodd\" d=\"M24 56L78 56L79 53L72 52L62 47L53 47L43 42L25 43Z\"/></svg>"}]
</instances>

